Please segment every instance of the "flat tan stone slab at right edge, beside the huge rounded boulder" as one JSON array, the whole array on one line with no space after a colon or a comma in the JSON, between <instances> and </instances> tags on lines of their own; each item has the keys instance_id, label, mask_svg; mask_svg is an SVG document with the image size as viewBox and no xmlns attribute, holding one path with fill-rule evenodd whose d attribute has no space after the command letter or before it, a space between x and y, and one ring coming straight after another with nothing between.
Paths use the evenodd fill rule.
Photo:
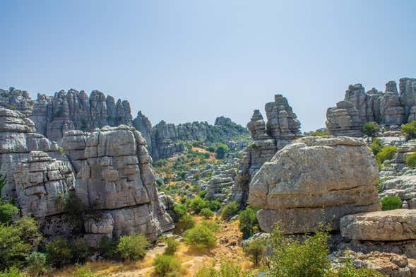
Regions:
<instances>
[{"instance_id":1,"label":"flat tan stone slab at right edge, beside the huge rounded boulder","mask_svg":"<svg viewBox=\"0 0 416 277\"><path fill-rule=\"evenodd\" d=\"M340 230L343 237L352 240L415 240L416 211L400 209L344 216Z\"/></svg>"}]
</instances>

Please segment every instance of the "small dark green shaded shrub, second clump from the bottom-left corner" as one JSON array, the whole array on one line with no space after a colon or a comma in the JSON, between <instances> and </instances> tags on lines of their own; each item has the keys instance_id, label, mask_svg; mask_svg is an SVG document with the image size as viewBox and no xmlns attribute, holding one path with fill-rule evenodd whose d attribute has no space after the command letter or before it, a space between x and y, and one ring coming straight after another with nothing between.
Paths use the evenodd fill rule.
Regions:
<instances>
[{"instance_id":1,"label":"small dark green shaded shrub, second clump from the bottom-left corner","mask_svg":"<svg viewBox=\"0 0 416 277\"><path fill-rule=\"evenodd\" d=\"M62 267L71 264L73 253L69 247L68 240L56 237L45 246L47 252L47 262L54 267Z\"/></svg>"}]
</instances>

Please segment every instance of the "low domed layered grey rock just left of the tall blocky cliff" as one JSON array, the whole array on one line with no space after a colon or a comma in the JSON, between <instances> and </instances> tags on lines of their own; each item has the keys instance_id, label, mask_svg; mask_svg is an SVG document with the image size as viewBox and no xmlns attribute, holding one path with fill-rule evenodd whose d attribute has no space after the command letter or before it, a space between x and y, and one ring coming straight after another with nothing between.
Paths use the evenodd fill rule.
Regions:
<instances>
[{"instance_id":1,"label":"low domed layered grey rock just left of the tall blocky cliff","mask_svg":"<svg viewBox=\"0 0 416 277\"><path fill-rule=\"evenodd\" d=\"M59 196L76 189L71 165L42 151L31 151L14 172L17 202L22 215L44 218L62 213Z\"/></svg>"}]
</instances>

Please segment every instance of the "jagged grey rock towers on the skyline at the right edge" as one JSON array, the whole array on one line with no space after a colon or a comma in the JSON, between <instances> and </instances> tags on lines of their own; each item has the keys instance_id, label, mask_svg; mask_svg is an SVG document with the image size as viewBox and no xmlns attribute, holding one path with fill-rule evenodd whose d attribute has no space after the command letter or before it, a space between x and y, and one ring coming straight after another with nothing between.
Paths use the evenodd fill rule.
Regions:
<instances>
[{"instance_id":1,"label":"jagged grey rock towers on the skyline at the right edge","mask_svg":"<svg viewBox=\"0 0 416 277\"><path fill-rule=\"evenodd\" d=\"M365 92L361 84L350 85L345 98L326 111L326 126L334 136L362 136L366 122L381 126L401 125L416 119L416 78L386 83L386 91Z\"/></svg>"}]
</instances>

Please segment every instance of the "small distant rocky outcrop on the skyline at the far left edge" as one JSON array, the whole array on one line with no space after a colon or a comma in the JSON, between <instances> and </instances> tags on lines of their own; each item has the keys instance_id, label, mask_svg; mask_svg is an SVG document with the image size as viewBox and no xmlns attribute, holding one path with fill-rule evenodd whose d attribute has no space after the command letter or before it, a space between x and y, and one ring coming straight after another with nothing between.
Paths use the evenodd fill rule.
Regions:
<instances>
[{"instance_id":1,"label":"small distant rocky outcrop on the skyline at the far left edge","mask_svg":"<svg viewBox=\"0 0 416 277\"><path fill-rule=\"evenodd\" d=\"M33 104L34 101L30 99L29 93L25 90L16 90L15 88L9 88L9 90L0 89L1 107L18 110L28 116L32 112Z\"/></svg>"}]
</instances>

